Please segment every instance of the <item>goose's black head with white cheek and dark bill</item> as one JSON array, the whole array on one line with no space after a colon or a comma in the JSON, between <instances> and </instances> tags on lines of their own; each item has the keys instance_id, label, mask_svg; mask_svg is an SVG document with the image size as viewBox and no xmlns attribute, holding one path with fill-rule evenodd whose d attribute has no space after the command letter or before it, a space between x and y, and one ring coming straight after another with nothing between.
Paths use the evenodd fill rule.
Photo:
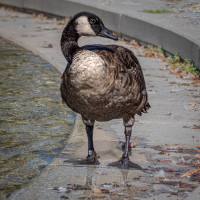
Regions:
<instances>
[{"instance_id":1,"label":"goose's black head with white cheek and dark bill","mask_svg":"<svg viewBox=\"0 0 200 200\"><path fill-rule=\"evenodd\" d=\"M81 12L75 15L72 19L73 25L79 37L81 36L100 36L113 40L117 40L118 37L107 29L102 20L88 12Z\"/></svg>"}]
</instances>

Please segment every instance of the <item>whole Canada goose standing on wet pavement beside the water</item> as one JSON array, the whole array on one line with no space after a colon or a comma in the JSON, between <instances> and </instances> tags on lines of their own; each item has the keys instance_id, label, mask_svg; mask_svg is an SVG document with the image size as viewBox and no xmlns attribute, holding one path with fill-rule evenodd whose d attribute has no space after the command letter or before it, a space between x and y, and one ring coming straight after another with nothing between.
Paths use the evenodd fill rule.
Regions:
<instances>
[{"instance_id":1,"label":"whole Canada goose standing on wet pavement beside the water","mask_svg":"<svg viewBox=\"0 0 200 200\"><path fill-rule=\"evenodd\" d=\"M119 161L121 168L140 168L128 156L134 116L150 108L141 66L132 51L117 45L78 46L81 36L101 36L117 40L102 20L88 12L76 14L64 28L61 50L68 65L62 76L61 96L86 125L88 156L79 164L99 164L94 150L95 120L123 118L125 151Z\"/></svg>"}]
</instances>

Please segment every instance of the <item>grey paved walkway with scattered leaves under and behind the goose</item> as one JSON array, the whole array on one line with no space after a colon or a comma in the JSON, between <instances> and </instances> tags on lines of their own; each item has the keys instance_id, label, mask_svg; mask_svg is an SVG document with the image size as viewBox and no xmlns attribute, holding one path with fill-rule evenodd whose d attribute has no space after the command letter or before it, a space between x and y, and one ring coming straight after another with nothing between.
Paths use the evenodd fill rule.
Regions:
<instances>
[{"instance_id":1,"label":"grey paved walkway with scattered leaves under and behind the goose","mask_svg":"<svg viewBox=\"0 0 200 200\"><path fill-rule=\"evenodd\" d=\"M60 25L61 24L61 25ZM66 61L59 40L64 28L56 20L0 10L0 35L41 55L63 72ZM104 38L82 38L80 44L114 43ZM138 56L138 55L137 55ZM179 79L165 69L162 60L139 57L152 106L136 118L131 160L143 170L118 170L107 164L117 160L124 140L121 120L95 125L95 146L101 156L98 167L74 167L65 160L86 155L87 141L80 117L63 152L30 184L10 199L197 199L199 178L181 178L199 162L200 87ZM193 193L194 192L194 193ZM196 196L195 196L196 195Z\"/></svg>"}]
</instances>

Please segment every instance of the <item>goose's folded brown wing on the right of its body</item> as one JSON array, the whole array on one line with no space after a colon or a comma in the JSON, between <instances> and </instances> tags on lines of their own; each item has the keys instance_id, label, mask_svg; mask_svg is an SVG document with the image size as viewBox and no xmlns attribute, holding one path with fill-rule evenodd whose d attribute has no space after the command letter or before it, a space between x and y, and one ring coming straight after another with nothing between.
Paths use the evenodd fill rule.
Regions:
<instances>
[{"instance_id":1,"label":"goose's folded brown wing on the right of its body","mask_svg":"<svg viewBox=\"0 0 200 200\"><path fill-rule=\"evenodd\" d=\"M117 45L104 46L98 44L86 45L82 48L95 52L105 61L110 73L115 74L115 89L120 90L124 97L132 94L133 106L139 107L137 114L147 112L150 104L148 103L142 68L131 50Z\"/></svg>"}]
</instances>

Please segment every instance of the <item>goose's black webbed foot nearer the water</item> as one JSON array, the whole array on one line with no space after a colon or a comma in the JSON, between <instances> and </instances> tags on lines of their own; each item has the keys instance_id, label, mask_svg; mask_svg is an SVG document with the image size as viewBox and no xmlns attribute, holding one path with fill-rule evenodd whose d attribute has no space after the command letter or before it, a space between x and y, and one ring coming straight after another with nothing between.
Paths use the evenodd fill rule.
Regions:
<instances>
[{"instance_id":1,"label":"goose's black webbed foot nearer the water","mask_svg":"<svg viewBox=\"0 0 200 200\"><path fill-rule=\"evenodd\" d=\"M89 151L89 154L86 158L80 159L74 162L74 165L99 165L100 162L98 161L100 156L95 151Z\"/></svg>"}]
</instances>

